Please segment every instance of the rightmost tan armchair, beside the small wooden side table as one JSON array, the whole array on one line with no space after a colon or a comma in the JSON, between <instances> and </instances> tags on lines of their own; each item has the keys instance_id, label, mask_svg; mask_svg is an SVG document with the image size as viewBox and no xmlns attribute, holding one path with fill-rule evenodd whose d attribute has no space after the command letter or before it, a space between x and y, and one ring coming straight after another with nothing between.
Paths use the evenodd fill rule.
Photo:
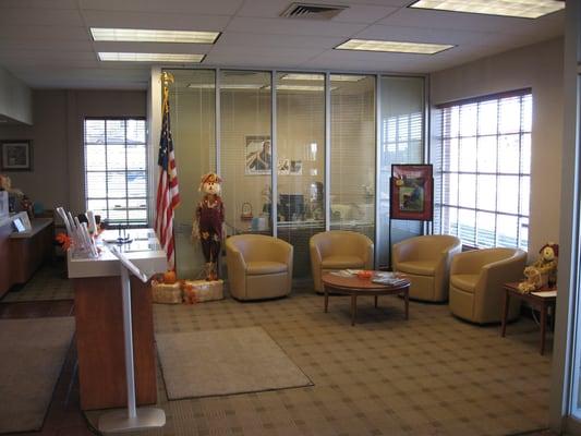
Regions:
<instances>
[{"instance_id":1,"label":"rightmost tan armchair, beside the small wooden side table","mask_svg":"<svg viewBox=\"0 0 581 436\"><path fill-rule=\"evenodd\" d=\"M503 284L519 281L526 253L516 249L484 249L457 255L450 268L450 311L472 323L503 318ZM511 299L507 319L519 316L520 300Z\"/></svg>"}]
</instances>

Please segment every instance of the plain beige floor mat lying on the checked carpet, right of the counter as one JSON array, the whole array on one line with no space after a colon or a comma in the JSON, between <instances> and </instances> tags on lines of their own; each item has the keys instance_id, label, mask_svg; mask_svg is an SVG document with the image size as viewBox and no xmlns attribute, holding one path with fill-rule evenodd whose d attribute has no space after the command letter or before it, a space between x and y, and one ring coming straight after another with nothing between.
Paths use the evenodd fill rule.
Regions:
<instances>
[{"instance_id":1,"label":"plain beige floor mat lying on the checked carpet, right of the counter","mask_svg":"<svg viewBox=\"0 0 581 436\"><path fill-rule=\"evenodd\" d=\"M156 335L168 399L311 386L261 327Z\"/></svg>"}]
</instances>

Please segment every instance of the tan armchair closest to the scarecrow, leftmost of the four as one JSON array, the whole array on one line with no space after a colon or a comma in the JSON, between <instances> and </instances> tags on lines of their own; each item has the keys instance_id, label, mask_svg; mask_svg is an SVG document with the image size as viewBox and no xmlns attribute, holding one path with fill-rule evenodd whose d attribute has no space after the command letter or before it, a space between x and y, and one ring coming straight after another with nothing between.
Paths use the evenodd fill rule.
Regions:
<instances>
[{"instance_id":1,"label":"tan armchair closest to the scarecrow, leftmost of the four","mask_svg":"<svg viewBox=\"0 0 581 436\"><path fill-rule=\"evenodd\" d=\"M230 294L238 300L288 295L292 286L292 245L262 234L226 240Z\"/></svg>"}]
</instances>

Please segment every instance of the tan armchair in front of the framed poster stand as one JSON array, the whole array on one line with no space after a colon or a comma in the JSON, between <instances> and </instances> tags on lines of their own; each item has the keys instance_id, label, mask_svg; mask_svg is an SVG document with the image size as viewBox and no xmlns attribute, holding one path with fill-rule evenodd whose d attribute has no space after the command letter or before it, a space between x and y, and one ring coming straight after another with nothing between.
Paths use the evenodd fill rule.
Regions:
<instances>
[{"instance_id":1,"label":"tan armchair in front of the framed poster stand","mask_svg":"<svg viewBox=\"0 0 581 436\"><path fill-rule=\"evenodd\" d=\"M392 247L392 267L410 279L410 298L423 301L448 300L448 274L461 241L448 234L410 238Z\"/></svg>"}]
</instances>

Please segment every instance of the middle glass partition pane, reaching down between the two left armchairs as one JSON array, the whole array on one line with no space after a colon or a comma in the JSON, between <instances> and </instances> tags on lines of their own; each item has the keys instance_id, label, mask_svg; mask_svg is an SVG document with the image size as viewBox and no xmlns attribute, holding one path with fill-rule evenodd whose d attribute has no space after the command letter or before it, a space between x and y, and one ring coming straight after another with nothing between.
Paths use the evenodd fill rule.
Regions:
<instances>
[{"instance_id":1,"label":"middle glass partition pane, reaching down between the two left armchairs","mask_svg":"<svg viewBox=\"0 0 581 436\"><path fill-rule=\"evenodd\" d=\"M277 235L308 277L308 240L325 231L325 74L277 74Z\"/></svg>"}]
</instances>

